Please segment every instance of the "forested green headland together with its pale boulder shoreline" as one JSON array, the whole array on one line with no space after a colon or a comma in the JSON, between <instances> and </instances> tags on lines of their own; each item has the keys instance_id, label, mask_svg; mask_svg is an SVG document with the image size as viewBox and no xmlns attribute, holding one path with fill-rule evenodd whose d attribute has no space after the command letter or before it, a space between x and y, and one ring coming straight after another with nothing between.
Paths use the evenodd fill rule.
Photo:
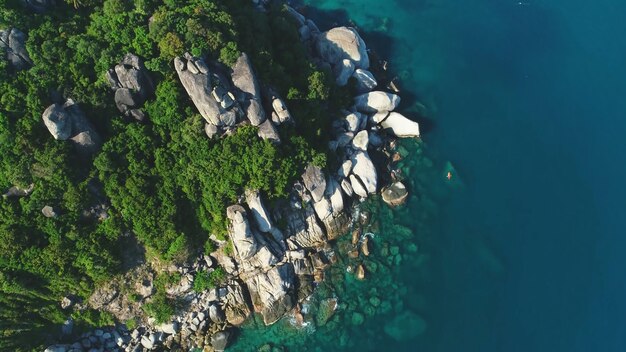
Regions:
<instances>
[{"instance_id":1,"label":"forested green headland together with its pale boulder shoreline","mask_svg":"<svg viewBox=\"0 0 626 352\"><path fill-rule=\"evenodd\" d=\"M7 240L25 252L2 249L2 295L17 297L2 304L16 319L39 297L33 305L52 313L9 330L1 346L21 350L26 333L38 336L32 348L50 352L223 351L255 314L265 325L285 316L302 324L303 302L337 261L334 242L352 233L347 255L370 255L360 202L398 206L408 197L391 165L396 139L419 137L419 126L394 111L400 97L369 71L380 64L356 29L322 31L280 1L131 5L80 10L93 11L91 22L68 51L86 55L91 41L104 48L73 61L86 74L35 49L50 30L41 23L67 5L38 3L33 24L20 17L32 4L18 4L6 16L16 23L0 22L36 28L0 32L0 83L14 82L0 107L2 133L30 133L34 150L64 158L28 159L15 148L25 142L3 139L3 162L24 169L1 175L2 216L35 214L30 226L44 240L17 240L28 227L3 220ZM107 32L115 28L107 21L122 20L139 25L116 29L134 33L130 42ZM181 23L187 33L175 29ZM54 40L62 39L45 43ZM27 85L21 77L46 68L50 81L26 104L11 97ZM58 260L68 278L28 269L35 259ZM361 264L353 275L370 273ZM323 305L337 309L336 300Z\"/></svg>"}]
</instances>

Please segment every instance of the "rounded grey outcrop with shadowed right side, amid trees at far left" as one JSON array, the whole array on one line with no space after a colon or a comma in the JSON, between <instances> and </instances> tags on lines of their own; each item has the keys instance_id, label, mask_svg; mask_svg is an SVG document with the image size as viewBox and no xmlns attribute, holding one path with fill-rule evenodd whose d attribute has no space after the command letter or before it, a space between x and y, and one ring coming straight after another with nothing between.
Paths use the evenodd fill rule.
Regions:
<instances>
[{"instance_id":1,"label":"rounded grey outcrop with shadowed right side, amid trees at far left","mask_svg":"<svg viewBox=\"0 0 626 352\"><path fill-rule=\"evenodd\" d=\"M93 154L102 144L93 125L72 99L50 105L42 118L54 139L70 139L81 154Z\"/></svg>"}]
</instances>

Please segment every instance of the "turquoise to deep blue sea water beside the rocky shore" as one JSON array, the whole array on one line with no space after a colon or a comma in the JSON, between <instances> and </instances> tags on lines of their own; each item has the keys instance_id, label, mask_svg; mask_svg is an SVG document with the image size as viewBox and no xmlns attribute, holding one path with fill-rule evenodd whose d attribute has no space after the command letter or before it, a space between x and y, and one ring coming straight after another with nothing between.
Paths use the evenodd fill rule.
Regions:
<instances>
[{"instance_id":1,"label":"turquoise to deep blue sea water beside the rocky shore","mask_svg":"<svg viewBox=\"0 0 626 352\"><path fill-rule=\"evenodd\" d=\"M306 3L400 77L425 142L404 145L414 197L372 205L372 255L314 298L337 298L328 322L251 324L232 349L625 351L626 3Z\"/></svg>"}]
</instances>

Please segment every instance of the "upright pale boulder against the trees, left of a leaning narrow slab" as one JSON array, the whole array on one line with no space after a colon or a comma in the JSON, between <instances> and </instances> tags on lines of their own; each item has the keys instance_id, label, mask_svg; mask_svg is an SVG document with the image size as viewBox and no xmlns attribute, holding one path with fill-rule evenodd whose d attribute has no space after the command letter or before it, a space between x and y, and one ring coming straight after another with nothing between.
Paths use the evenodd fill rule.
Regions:
<instances>
[{"instance_id":1,"label":"upright pale boulder against the trees, left of a leaning narrow slab","mask_svg":"<svg viewBox=\"0 0 626 352\"><path fill-rule=\"evenodd\" d=\"M246 210L241 205L232 205L226 209L230 220L228 233L233 241L235 253L244 261L252 257L257 251L257 241L254 238Z\"/></svg>"}]
</instances>

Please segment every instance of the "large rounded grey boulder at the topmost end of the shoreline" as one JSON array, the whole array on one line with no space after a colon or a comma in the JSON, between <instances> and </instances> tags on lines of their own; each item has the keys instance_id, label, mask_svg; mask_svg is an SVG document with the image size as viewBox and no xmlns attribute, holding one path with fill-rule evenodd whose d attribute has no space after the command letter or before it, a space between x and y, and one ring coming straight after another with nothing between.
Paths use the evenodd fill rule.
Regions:
<instances>
[{"instance_id":1,"label":"large rounded grey boulder at the topmost end of the shoreline","mask_svg":"<svg viewBox=\"0 0 626 352\"><path fill-rule=\"evenodd\" d=\"M367 47L354 28L336 27L322 33L317 39L317 52L320 58L333 66L349 59L357 68L369 68Z\"/></svg>"}]
</instances>

